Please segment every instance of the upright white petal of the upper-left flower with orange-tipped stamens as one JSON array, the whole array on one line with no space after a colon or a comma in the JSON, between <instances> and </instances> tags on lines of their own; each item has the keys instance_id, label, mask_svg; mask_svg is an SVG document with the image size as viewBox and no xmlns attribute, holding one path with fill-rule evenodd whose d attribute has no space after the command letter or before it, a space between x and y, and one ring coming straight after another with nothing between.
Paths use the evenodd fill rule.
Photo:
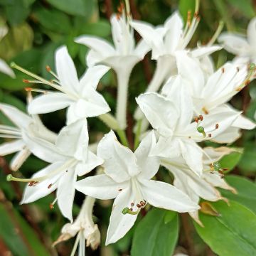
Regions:
<instances>
[{"instance_id":1,"label":"upright white petal of the upper-left flower with orange-tipped stamens","mask_svg":"<svg viewBox=\"0 0 256 256\"><path fill-rule=\"evenodd\" d=\"M55 67L60 85L74 92L78 90L79 80L72 58L68 54L68 48L62 46L55 53Z\"/></svg>"}]
</instances>

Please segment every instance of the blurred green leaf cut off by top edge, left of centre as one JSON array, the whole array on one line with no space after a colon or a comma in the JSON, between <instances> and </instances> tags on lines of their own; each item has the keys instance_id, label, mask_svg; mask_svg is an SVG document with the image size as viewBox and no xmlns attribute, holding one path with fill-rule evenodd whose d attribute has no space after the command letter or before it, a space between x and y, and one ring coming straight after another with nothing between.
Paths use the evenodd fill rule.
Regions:
<instances>
[{"instance_id":1,"label":"blurred green leaf cut off by top edge, left of centre","mask_svg":"<svg viewBox=\"0 0 256 256\"><path fill-rule=\"evenodd\" d=\"M86 16L92 12L93 1L84 0L48 0L55 8L67 14Z\"/></svg>"}]
</instances>

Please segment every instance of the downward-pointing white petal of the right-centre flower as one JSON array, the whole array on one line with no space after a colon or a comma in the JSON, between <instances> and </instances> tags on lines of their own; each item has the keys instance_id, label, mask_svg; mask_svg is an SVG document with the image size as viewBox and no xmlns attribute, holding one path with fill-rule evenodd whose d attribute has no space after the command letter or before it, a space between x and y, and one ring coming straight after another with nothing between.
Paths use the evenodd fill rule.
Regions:
<instances>
[{"instance_id":1,"label":"downward-pointing white petal of the right-centre flower","mask_svg":"<svg viewBox=\"0 0 256 256\"><path fill-rule=\"evenodd\" d=\"M201 176L203 171L203 153L200 148L191 139L180 140L181 155L185 159L186 164L195 172L198 176Z\"/></svg>"}]
</instances>

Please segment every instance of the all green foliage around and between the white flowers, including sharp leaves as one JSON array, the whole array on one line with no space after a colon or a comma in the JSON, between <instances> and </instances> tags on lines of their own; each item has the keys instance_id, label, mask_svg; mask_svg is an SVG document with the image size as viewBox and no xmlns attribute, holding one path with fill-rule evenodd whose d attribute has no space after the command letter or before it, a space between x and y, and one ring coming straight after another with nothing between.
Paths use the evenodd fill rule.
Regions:
<instances>
[{"instance_id":1,"label":"all green foliage around and between the white flowers, including sharp leaves","mask_svg":"<svg viewBox=\"0 0 256 256\"><path fill-rule=\"evenodd\" d=\"M176 9L186 21L188 10L193 11L193 0L131 0L132 15L154 25L164 23ZM0 0L0 24L9 26L9 33L0 43L0 58L8 63L15 61L23 68L50 79L46 65L54 69L54 52L60 45L67 45L75 60L78 74L85 68L87 48L73 42L76 36L90 34L111 41L111 27L108 21L112 11L117 10L119 1L97 0ZM255 16L256 2L250 0L202 0L200 6L201 23L198 26L191 47L197 41L207 42L218 26L225 22L225 30L246 33L247 23ZM256 48L256 46L255 46ZM216 67L233 58L225 50L214 53ZM129 119L136 107L134 97L143 92L146 81L154 71L155 63L146 56L132 73L129 83ZM144 70L144 71L143 71ZM16 79L0 73L0 100L26 111L26 75L16 72ZM47 88L47 86L45 86ZM100 84L100 91L109 102L112 112L115 107L116 78L108 73ZM256 111L256 87L252 84L238 94L231 103L244 110L247 117L254 118ZM9 121L0 114L0 122ZM55 132L65 124L65 111L43 115L43 122ZM131 121L132 122L132 121ZM90 139L95 141L107 128L97 119L89 120ZM229 198L230 207L223 202L213 203L222 213L210 216L201 213L205 228L192 223L184 223L183 215L166 210L152 209L146 216L140 216L134 228L114 245L104 246L109 222L111 201L97 201L95 221L102 231L102 245L87 255L173 255L178 246L189 255L256 255L256 146L255 131L245 131L235 145L244 149L243 154L225 156L221 164L231 172L226 176L238 195L221 191ZM58 238L65 219L58 207L50 210L49 203L54 196L42 198L28 206L20 206L23 184L7 183L10 156L0 159L0 255L69 255L73 240L51 247ZM31 176L46 164L31 156L22 166L18 175ZM234 175L235 174L235 175ZM163 170L161 178L169 181ZM243 177L242 177L243 176ZM78 214L83 196L77 194L73 214ZM97 216L97 217L96 217ZM181 223L181 224L180 224ZM184 225L190 229L191 239L187 240ZM179 232L180 231L180 232ZM179 233L178 233L179 232ZM191 249L193 243L193 251ZM132 249L131 249L132 248ZM235 248L235 249L234 249ZM239 250L238 250L239 248ZM184 251L185 250L185 251ZM2 254L3 253L3 254ZM7 254L6 254L7 255Z\"/></svg>"}]
</instances>

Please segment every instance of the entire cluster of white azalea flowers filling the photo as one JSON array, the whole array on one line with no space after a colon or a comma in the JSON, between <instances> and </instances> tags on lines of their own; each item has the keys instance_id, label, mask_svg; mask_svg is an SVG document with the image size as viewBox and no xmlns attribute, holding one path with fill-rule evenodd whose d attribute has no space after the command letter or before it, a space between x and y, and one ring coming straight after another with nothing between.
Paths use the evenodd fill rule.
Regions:
<instances>
[{"instance_id":1,"label":"entire cluster of white azalea flowers filling the photo","mask_svg":"<svg viewBox=\"0 0 256 256\"><path fill-rule=\"evenodd\" d=\"M18 170L30 154L49 163L31 178L10 174L7 180L27 183L21 203L31 203L56 191L50 208L57 202L63 216L70 220L56 242L77 235L73 252L80 242L81 255L85 253L85 240L93 249L100 244L100 232L92 221L95 198L114 199L106 244L122 238L148 205L188 212L202 225L198 218L200 198L225 199L215 187L235 193L223 179L225 166L218 161L237 150L204 146L205 142L230 144L240 137L240 129L255 128L255 123L228 104L255 76L255 65L250 63L255 60L251 46L255 41L255 20L248 27L248 42L223 34L219 38L223 45L213 45L215 40L211 40L206 46L191 49L188 43L200 20L198 2L186 26L178 12L164 25L153 27L132 20L129 6L126 9L110 20L114 46L92 36L75 38L75 42L90 48L88 68L80 79L68 49L62 46L55 53L56 73L46 67L53 80L11 64L33 78L24 82L45 84L54 90L27 87L28 114L0 105L1 112L14 123L14 127L0 126L0 136L12 139L1 144L1 156L17 152L11 169ZM136 46L134 30L142 36ZM238 57L215 70L210 54L223 46ZM156 70L146 92L136 98L133 151L125 136L129 76L149 51L151 59L156 60ZM97 92L100 79L110 69L117 74L118 83L115 116ZM32 97L32 92L40 94ZM65 108L66 125L58 134L48 130L38 116ZM93 145L89 144L87 128L87 118L91 117L102 119L111 129ZM160 166L173 174L173 185L159 181L156 174ZM95 176L85 177L95 168ZM76 190L87 197L73 222Z\"/></svg>"}]
</instances>

